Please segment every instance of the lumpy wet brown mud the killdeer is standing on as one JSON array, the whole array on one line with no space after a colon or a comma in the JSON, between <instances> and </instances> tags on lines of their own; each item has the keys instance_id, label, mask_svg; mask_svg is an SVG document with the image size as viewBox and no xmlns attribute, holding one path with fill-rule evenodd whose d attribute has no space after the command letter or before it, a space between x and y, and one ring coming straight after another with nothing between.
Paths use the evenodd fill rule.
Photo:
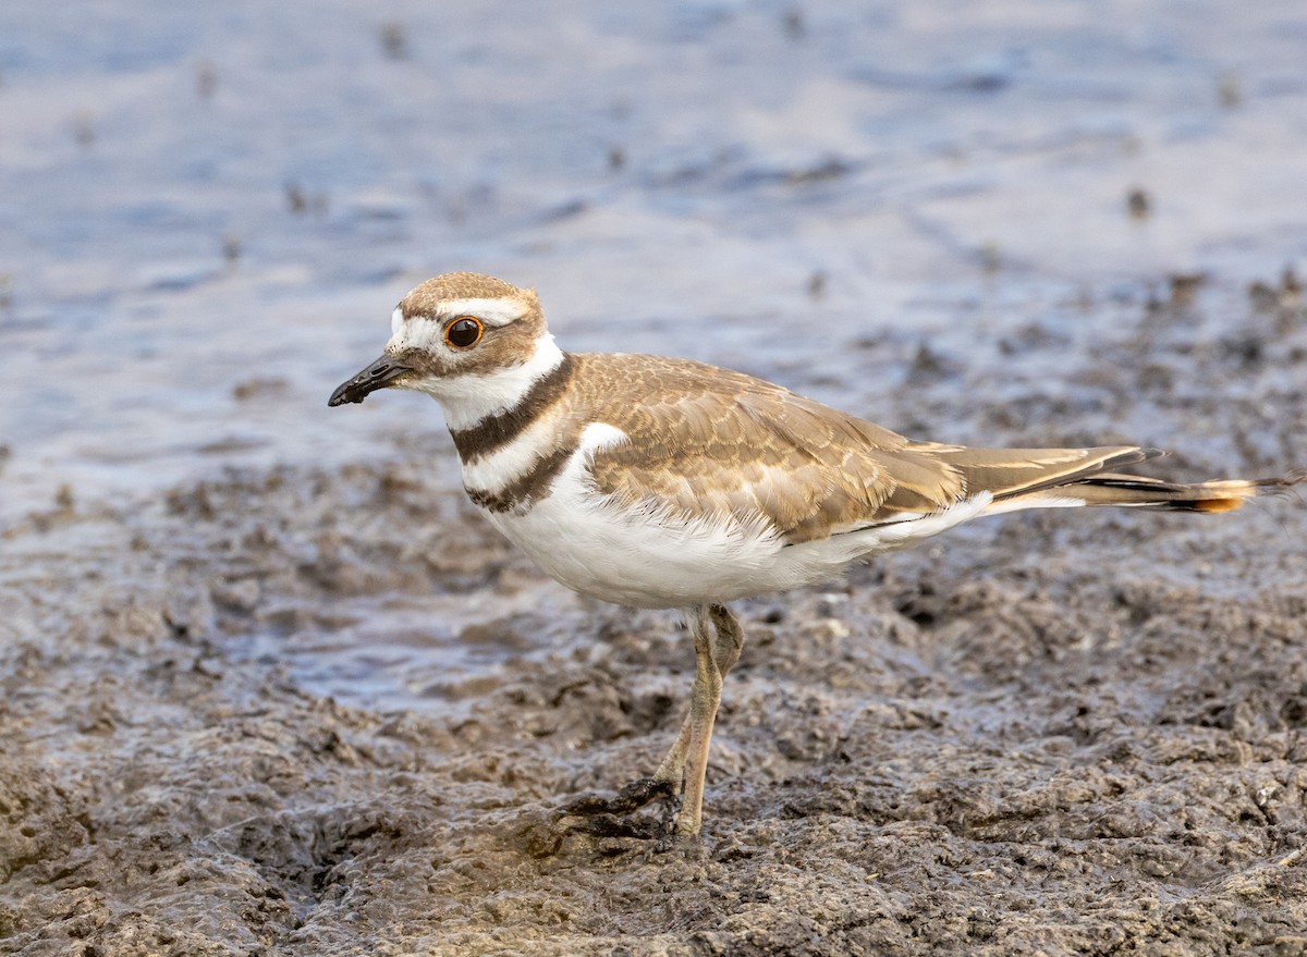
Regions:
<instances>
[{"instance_id":1,"label":"lumpy wet brown mud the killdeer is standing on","mask_svg":"<svg viewBox=\"0 0 1307 957\"><path fill-rule=\"evenodd\" d=\"M1167 350L1134 403L1162 414L1196 356L1255 354L1252 392L1300 375L1300 309L1249 316L1235 358ZM1277 401L1303 434L1304 394ZM651 770L686 635L515 605L554 586L430 455L5 532L0 953L1307 948L1302 501L1016 515L741 603L703 838L668 846L559 808ZM1256 468L1286 464L1272 442ZM312 648L285 651L442 597L516 611L454 631L471 658L399 706L306 690Z\"/></svg>"}]
</instances>

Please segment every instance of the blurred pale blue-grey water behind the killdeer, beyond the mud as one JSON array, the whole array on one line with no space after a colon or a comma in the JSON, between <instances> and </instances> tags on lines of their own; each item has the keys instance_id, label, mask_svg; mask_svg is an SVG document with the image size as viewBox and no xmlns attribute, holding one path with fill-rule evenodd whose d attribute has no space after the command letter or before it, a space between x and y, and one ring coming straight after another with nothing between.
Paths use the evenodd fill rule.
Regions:
<instances>
[{"instance_id":1,"label":"blurred pale blue-grey water behind the killdeer, beyond the mud","mask_svg":"<svg viewBox=\"0 0 1307 957\"><path fill-rule=\"evenodd\" d=\"M983 439L1116 316L1294 293L1304 48L1299 0L7 3L0 522L438 435L325 399L455 269Z\"/></svg>"}]
</instances>

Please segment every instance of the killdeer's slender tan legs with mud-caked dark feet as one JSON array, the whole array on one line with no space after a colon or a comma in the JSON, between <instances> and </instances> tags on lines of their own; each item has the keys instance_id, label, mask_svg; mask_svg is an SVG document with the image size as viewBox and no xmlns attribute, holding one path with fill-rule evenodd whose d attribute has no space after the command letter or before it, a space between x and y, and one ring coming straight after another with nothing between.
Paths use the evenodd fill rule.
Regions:
<instances>
[{"instance_id":1,"label":"killdeer's slender tan legs with mud-caked dark feet","mask_svg":"<svg viewBox=\"0 0 1307 957\"><path fill-rule=\"evenodd\" d=\"M716 638L711 639L708 620ZM740 660L744 630L738 618L725 605L701 605L686 614L694 635L695 676L690 692L690 709L681 731L657 770L650 778L626 784L612 798L584 795L559 809L562 817L591 817L592 825L580 830L609 835L647 837L637 825L621 825L614 814L630 814L659 798L681 796L681 807L672 821L676 834L698 834L703 820L703 778L708 764L708 741L721 701L721 681ZM674 805L673 805L674 807Z\"/></svg>"}]
</instances>

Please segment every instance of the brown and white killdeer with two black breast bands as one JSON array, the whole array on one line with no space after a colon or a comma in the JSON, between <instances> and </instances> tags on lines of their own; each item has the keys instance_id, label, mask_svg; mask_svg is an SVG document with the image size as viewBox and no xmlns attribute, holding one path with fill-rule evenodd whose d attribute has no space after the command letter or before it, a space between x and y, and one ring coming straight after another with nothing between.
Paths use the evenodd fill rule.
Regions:
<instances>
[{"instance_id":1,"label":"brown and white killdeer with two black breast bands","mask_svg":"<svg viewBox=\"0 0 1307 957\"><path fill-rule=\"evenodd\" d=\"M1111 471L1155 455L1134 446L916 442L725 369L565 353L533 289L474 273L417 286L391 333L329 405L386 387L431 395L468 495L545 573L605 601L684 609L697 662L689 713L652 778L609 805L680 792L678 834L699 831L721 680L744 643L724 603L836 577L980 515L1087 505L1219 512L1307 480L1298 471L1183 485Z\"/></svg>"}]
</instances>

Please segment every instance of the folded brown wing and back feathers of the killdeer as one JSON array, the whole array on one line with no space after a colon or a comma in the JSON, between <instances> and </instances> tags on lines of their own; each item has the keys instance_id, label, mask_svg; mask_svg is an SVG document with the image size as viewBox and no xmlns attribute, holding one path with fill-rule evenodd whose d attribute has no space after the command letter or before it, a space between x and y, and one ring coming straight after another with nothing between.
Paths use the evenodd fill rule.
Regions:
<instances>
[{"instance_id":1,"label":"folded brown wing and back feathers of the killdeer","mask_svg":"<svg viewBox=\"0 0 1307 957\"><path fill-rule=\"evenodd\" d=\"M629 442L592 460L599 489L687 516L765 519L789 543L928 514L982 490L1065 482L1128 447L983 450L919 443L738 373L655 356L576 356L576 399ZM596 360L603 375L588 374ZM614 378L616 377L616 378ZM614 411L616 409L616 411Z\"/></svg>"}]
</instances>

